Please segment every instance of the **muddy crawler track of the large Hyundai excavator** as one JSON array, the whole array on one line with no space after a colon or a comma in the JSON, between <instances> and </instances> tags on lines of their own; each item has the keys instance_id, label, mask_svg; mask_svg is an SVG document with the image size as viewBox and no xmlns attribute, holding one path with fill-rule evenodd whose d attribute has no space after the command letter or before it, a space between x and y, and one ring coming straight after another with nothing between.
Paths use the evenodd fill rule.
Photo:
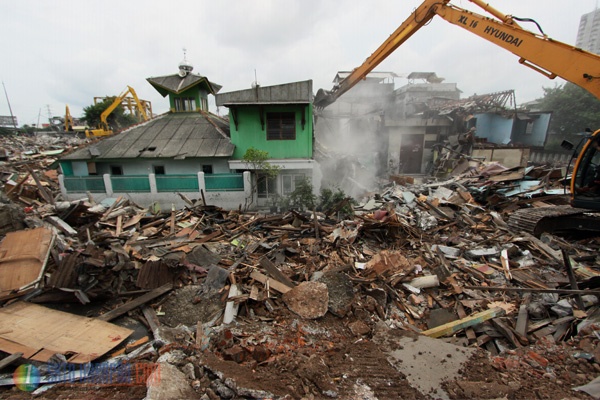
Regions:
<instances>
[{"instance_id":1,"label":"muddy crawler track of the large Hyundai excavator","mask_svg":"<svg viewBox=\"0 0 600 400\"><path fill-rule=\"evenodd\" d=\"M510 215L508 226L515 232L525 231L538 237L544 232L600 232L600 218L584 215L597 212L570 205L523 208Z\"/></svg>"}]
</instances>

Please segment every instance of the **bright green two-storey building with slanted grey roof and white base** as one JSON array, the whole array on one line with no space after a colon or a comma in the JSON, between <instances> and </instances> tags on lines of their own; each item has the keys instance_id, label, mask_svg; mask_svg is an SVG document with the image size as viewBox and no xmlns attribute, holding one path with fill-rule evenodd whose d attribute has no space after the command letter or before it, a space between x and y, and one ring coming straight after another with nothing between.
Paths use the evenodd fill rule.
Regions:
<instances>
[{"instance_id":1,"label":"bright green two-storey building with slanted grey roof and white base","mask_svg":"<svg viewBox=\"0 0 600 400\"><path fill-rule=\"evenodd\" d=\"M308 178L319 190L321 170L313 158L314 124L312 81L292 82L215 96L217 106L229 108L229 131L235 145L229 160L232 170L251 168L243 161L250 148L266 151L268 162L280 167L276 178L265 179L253 173L257 204L271 205L288 196L296 184Z\"/></svg>"}]
</instances>

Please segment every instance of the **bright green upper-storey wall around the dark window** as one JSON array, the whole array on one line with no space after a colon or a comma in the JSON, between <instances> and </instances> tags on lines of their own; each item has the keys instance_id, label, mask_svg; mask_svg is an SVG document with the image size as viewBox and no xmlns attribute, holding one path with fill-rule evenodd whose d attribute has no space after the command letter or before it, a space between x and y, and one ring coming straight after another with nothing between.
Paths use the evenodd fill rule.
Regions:
<instances>
[{"instance_id":1,"label":"bright green upper-storey wall around the dark window","mask_svg":"<svg viewBox=\"0 0 600 400\"><path fill-rule=\"evenodd\" d=\"M231 142L235 145L233 159L241 160L250 147L267 151L271 159L312 158L313 124L312 105L242 106L229 111ZM263 114L264 127L260 113ZM268 112L295 112L296 140L267 140L266 114ZM233 113L237 116L237 126ZM304 114L304 127L302 126Z\"/></svg>"}]
</instances>

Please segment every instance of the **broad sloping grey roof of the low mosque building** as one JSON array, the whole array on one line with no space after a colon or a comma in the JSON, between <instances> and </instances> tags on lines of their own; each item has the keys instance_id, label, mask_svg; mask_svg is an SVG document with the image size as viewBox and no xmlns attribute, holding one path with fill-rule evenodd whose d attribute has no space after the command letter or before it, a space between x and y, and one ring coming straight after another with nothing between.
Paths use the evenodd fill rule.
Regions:
<instances>
[{"instance_id":1,"label":"broad sloping grey roof of the low mosque building","mask_svg":"<svg viewBox=\"0 0 600 400\"><path fill-rule=\"evenodd\" d=\"M166 114L79 149L63 160L230 157L229 125L210 113Z\"/></svg>"}]
</instances>

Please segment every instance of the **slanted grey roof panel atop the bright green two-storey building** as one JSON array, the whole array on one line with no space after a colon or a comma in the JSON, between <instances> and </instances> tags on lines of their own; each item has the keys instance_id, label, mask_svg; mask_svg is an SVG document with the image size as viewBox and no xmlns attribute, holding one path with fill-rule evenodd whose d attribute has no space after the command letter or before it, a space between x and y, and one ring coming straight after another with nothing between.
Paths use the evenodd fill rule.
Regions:
<instances>
[{"instance_id":1,"label":"slanted grey roof panel atop the bright green two-storey building","mask_svg":"<svg viewBox=\"0 0 600 400\"><path fill-rule=\"evenodd\" d=\"M312 80L284 83L274 86L256 86L251 89L215 95L217 106L250 104L309 104L312 102Z\"/></svg>"}]
</instances>

